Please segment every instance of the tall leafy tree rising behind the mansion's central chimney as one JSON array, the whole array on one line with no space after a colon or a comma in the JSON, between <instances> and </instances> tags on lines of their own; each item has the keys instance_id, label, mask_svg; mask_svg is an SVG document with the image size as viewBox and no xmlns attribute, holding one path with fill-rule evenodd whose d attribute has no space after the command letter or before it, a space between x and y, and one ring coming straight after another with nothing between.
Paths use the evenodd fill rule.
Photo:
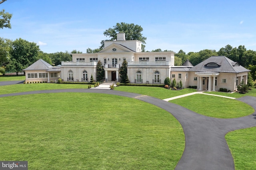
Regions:
<instances>
[{"instance_id":1,"label":"tall leafy tree rising behind the mansion's central chimney","mask_svg":"<svg viewBox=\"0 0 256 170\"><path fill-rule=\"evenodd\" d=\"M108 30L106 30L103 34L104 36L109 37L110 41L114 41L117 39L116 33L125 33L125 40L141 41L142 51L145 51L144 44L146 43L145 41L147 40L147 38L142 36L141 34L142 31L143 31L143 28L139 25L126 24L124 22L121 22L121 23L116 23L116 26L113 26L113 28L108 28ZM101 48L103 48L103 46L101 46Z\"/></svg>"}]
</instances>

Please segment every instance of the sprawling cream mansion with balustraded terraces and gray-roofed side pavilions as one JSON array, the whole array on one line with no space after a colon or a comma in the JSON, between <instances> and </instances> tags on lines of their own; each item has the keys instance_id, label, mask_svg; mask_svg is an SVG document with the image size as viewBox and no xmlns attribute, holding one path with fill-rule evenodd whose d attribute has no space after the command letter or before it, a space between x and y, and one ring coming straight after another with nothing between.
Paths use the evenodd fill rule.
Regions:
<instances>
[{"instance_id":1,"label":"sprawling cream mansion with balustraded terraces and gray-roofed side pavilions","mask_svg":"<svg viewBox=\"0 0 256 170\"><path fill-rule=\"evenodd\" d=\"M23 71L26 82L30 81L90 81L96 79L97 61L105 70L105 81L119 81L118 70L126 60L130 83L159 83L175 78L184 87L197 86L198 89L218 91L226 88L236 90L236 85L244 80L250 70L224 56L212 56L193 66L188 60L182 66L174 66L174 52L141 52L141 42L125 40L124 33L117 34L116 41L105 41L104 49L98 53L74 53L72 61L62 61L60 67L52 67L39 59ZM100 81L100 80L97 80Z\"/></svg>"}]
</instances>

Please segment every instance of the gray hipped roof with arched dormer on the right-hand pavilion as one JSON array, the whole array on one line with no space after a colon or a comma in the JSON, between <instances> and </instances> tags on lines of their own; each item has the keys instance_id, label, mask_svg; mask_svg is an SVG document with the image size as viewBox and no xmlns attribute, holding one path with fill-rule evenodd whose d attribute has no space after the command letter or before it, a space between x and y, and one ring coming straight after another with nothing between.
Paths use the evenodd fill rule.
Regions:
<instances>
[{"instance_id":1,"label":"gray hipped roof with arched dormer on the right-hand pavilion","mask_svg":"<svg viewBox=\"0 0 256 170\"><path fill-rule=\"evenodd\" d=\"M218 66L207 66L208 63L216 63ZM212 56L198 65L195 65L189 71L213 71L222 73L241 73L250 71L241 65L235 66L236 63L237 62L234 62L225 56Z\"/></svg>"}]
</instances>

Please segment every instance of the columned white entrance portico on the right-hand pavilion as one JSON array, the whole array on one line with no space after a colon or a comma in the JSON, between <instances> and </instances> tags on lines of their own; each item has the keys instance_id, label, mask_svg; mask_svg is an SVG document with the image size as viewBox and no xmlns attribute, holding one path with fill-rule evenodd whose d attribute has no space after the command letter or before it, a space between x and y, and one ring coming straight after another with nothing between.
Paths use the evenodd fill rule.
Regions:
<instances>
[{"instance_id":1,"label":"columned white entrance portico on the right-hand pavilion","mask_svg":"<svg viewBox=\"0 0 256 170\"><path fill-rule=\"evenodd\" d=\"M207 91L215 91L215 77L218 77L220 73L218 72L211 72L211 71L202 71L202 72L196 72L196 75L199 77L199 81L197 84L197 87L199 90L203 90L203 77L208 77L208 88ZM207 80L207 79L205 79ZM204 83L205 83L204 80Z\"/></svg>"}]
</instances>

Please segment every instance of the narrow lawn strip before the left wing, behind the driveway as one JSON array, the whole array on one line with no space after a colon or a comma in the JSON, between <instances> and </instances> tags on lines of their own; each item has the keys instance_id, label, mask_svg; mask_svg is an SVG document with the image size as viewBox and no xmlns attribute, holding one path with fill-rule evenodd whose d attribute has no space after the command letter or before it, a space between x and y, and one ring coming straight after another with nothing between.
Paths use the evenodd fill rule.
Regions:
<instances>
[{"instance_id":1,"label":"narrow lawn strip before the left wing, behind the driveway","mask_svg":"<svg viewBox=\"0 0 256 170\"><path fill-rule=\"evenodd\" d=\"M86 84L32 83L0 86L0 94L50 89L88 89Z\"/></svg>"}]
</instances>

